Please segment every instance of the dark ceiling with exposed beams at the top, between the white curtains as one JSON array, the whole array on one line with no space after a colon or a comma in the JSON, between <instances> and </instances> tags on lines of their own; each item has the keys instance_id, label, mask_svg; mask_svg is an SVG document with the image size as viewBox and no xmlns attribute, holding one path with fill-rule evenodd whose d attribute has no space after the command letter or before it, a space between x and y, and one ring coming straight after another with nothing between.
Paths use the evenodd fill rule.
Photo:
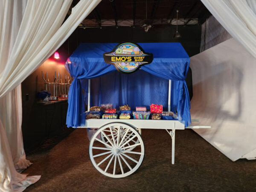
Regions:
<instances>
[{"instance_id":1,"label":"dark ceiling with exposed beams at the top, between the white curtains","mask_svg":"<svg viewBox=\"0 0 256 192\"><path fill-rule=\"evenodd\" d=\"M73 0L72 6L78 2ZM192 19L198 19L201 24L211 15L201 0L102 0L86 19L95 19L99 25L101 20L115 20L118 25L118 20L134 20L135 23L146 17L152 23L160 19L172 21L177 9L184 24Z\"/></svg>"}]
</instances>

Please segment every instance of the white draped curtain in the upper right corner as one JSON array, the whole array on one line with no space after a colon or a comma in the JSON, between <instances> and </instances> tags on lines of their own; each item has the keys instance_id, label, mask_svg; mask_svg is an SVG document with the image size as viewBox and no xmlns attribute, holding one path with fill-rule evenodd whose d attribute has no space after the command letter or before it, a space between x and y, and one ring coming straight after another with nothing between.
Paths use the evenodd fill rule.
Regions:
<instances>
[{"instance_id":1,"label":"white draped curtain in the upper right corner","mask_svg":"<svg viewBox=\"0 0 256 192\"><path fill-rule=\"evenodd\" d=\"M256 0L201 0L222 26L256 58Z\"/></svg>"}]
</instances>

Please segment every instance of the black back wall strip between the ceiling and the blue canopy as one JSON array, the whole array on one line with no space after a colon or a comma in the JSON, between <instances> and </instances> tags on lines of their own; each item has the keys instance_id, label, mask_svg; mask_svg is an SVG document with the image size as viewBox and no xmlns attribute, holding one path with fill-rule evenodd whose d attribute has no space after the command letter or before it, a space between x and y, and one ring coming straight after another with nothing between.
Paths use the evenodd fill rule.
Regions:
<instances>
[{"instance_id":1,"label":"black back wall strip between the ceiling and the blue canopy","mask_svg":"<svg viewBox=\"0 0 256 192\"><path fill-rule=\"evenodd\" d=\"M144 32L140 26L78 28L69 38L70 55L80 43L120 43L122 41L146 42L180 42L191 57L199 53L201 42L201 25L178 26L181 39L173 38L176 26L154 26ZM61 47L67 47L67 41Z\"/></svg>"}]
</instances>

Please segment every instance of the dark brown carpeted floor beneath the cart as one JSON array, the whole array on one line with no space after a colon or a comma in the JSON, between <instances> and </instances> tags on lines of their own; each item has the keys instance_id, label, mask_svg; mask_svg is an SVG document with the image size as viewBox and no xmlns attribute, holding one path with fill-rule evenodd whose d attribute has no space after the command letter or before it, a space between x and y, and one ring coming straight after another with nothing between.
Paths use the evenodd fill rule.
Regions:
<instances>
[{"instance_id":1,"label":"dark brown carpeted floor beneath the cart","mask_svg":"<svg viewBox=\"0 0 256 192\"><path fill-rule=\"evenodd\" d=\"M256 160L232 162L192 130L143 129L145 158L133 175L113 179L101 175L88 155L87 130L76 129L52 148L27 155L34 164L23 173L42 175L26 192L84 191L243 191L256 192Z\"/></svg>"}]
</instances>

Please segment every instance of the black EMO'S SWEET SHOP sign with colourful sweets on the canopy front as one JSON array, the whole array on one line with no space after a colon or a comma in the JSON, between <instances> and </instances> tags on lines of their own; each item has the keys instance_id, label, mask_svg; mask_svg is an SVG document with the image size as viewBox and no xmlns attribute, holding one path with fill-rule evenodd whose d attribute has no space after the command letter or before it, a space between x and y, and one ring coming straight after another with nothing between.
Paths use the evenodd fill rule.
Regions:
<instances>
[{"instance_id":1,"label":"black EMO'S SWEET SHOP sign with colourful sweets on the canopy front","mask_svg":"<svg viewBox=\"0 0 256 192\"><path fill-rule=\"evenodd\" d=\"M106 63L113 64L122 73L134 73L141 65L150 64L153 54L145 52L136 43L121 43L111 52L105 52L103 58Z\"/></svg>"}]
</instances>

